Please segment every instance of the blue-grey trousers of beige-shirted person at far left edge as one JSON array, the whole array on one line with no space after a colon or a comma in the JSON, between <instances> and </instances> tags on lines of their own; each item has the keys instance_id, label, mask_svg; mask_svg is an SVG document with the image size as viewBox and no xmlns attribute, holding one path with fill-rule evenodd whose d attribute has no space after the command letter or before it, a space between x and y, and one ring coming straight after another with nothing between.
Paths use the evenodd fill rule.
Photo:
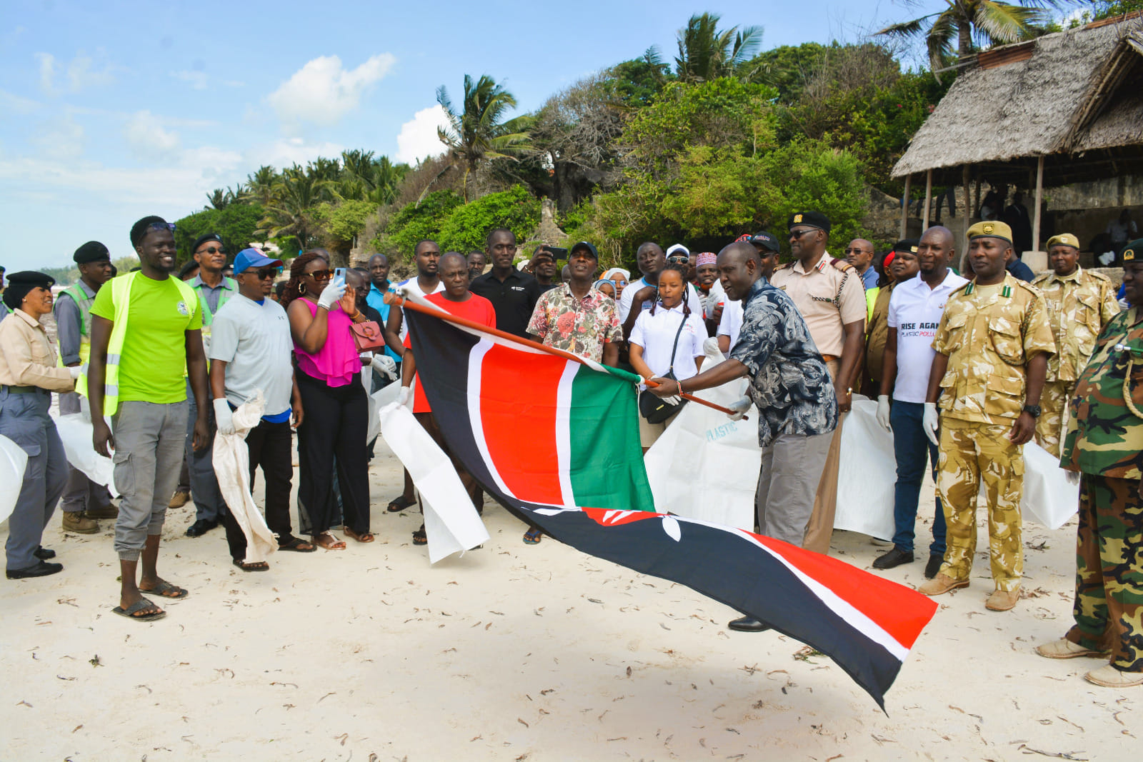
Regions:
<instances>
[{"instance_id":1,"label":"blue-grey trousers of beige-shirted person at far left edge","mask_svg":"<svg viewBox=\"0 0 1143 762\"><path fill-rule=\"evenodd\" d=\"M67 456L56 433L56 424L48 415L50 407L48 392L14 394L0 388L0 434L27 454L24 481L8 519L8 542L5 543L7 568L13 571L39 563L33 553L40 547L43 528L67 481Z\"/></svg>"}]
</instances>

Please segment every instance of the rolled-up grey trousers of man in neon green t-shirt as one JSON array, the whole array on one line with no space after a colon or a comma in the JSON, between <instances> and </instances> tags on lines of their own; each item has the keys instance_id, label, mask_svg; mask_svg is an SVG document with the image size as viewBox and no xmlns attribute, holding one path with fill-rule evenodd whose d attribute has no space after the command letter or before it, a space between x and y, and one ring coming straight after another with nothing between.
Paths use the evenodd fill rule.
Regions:
<instances>
[{"instance_id":1,"label":"rolled-up grey trousers of man in neon green t-shirt","mask_svg":"<svg viewBox=\"0 0 1143 762\"><path fill-rule=\"evenodd\" d=\"M187 403L120 402L111 417L115 438L115 487L122 490L115 519L120 561L137 561L147 535L162 534L167 503L178 481L186 441Z\"/></svg>"}]
</instances>

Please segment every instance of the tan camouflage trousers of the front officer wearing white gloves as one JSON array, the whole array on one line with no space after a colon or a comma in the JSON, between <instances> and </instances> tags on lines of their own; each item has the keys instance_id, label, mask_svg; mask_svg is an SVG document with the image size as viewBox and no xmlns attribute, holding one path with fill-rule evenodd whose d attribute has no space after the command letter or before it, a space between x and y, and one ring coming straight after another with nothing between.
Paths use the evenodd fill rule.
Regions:
<instances>
[{"instance_id":1,"label":"tan camouflage trousers of the front officer wearing white gloves","mask_svg":"<svg viewBox=\"0 0 1143 762\"><path fill-rule=\"evenodd\" d=\"M976 499L984 482L989 505L992 579L1002 591L1020 587L1024 573L1020 497L1023 448L1008 439L1009 425L941 418L936 489L944 507L946 548L941 572L968 579L976 553Z\"/></svg>"}]
</instances>

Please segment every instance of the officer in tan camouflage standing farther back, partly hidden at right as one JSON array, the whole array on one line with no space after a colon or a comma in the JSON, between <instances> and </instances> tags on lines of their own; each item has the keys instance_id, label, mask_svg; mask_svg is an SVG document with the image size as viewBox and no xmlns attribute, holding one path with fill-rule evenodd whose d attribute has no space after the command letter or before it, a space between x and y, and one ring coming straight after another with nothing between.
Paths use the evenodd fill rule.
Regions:
<instances>
[{"instance_id":1,"label":"officer in tan camouflage standing farther back, partly hidden at right","mask_svg":"<svg viewBox=\"0 0 1143 762\"><path fill-rule=\"evenodd\" d=\"M1060 456L1064 410L1076 379L1095 351L1095 339L1108 322L1119 314L1119 302L1111 280L1079 266L1079 239L1071 233L1048 239L1052 272L1032 281L1050 307L1052 332L1056 354L1048 360L1048 376L1040 395L1040 419L1036 442Z\"/></svg>"}]
</instances>

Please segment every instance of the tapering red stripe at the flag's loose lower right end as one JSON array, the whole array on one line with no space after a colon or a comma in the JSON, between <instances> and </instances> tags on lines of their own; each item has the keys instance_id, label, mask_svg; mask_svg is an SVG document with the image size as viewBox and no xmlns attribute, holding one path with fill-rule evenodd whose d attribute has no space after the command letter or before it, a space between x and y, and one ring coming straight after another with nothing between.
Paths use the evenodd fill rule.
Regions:
<instances>
[{"instance_id":1,"label":"tapering red stripe at the flag's loose lower right end","mask_svg":"<svg viewBox=\"0 0 1143 762\"><path fill-rule=\"evenodd\" d=\"M769 537L754 537L799 571L832 589L905 648L913 647L936 611L936 601L895 581L873 575L855 575L854 568L844 561Z\"/></svg>"}]
</instances>

